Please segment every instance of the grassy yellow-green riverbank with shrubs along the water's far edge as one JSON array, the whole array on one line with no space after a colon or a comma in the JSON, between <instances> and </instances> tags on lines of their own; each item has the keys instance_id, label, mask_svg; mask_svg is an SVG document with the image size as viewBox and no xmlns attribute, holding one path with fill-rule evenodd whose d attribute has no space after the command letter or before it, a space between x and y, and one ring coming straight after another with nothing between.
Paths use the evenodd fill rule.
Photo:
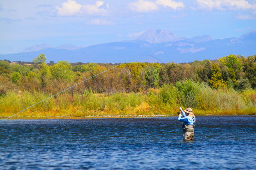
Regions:
<instances>
[{"instance_id":1,"label":"grassy yellow-green riverbank with shrubs along the water's far edge","mask_svg":"<svg viewBox=\"0 0 256 170\"><path fill-rule=\"evenodd\" d=\"M0 117L9 117L50 96L46 92L8 91L0 97ZM215 90L191 80L138 93L93 93L84 89L49 98L15 117L169 116L176 114L178 106L191 107L196 115L256 114L256 90Z\"/></svg>"}]
</instances>

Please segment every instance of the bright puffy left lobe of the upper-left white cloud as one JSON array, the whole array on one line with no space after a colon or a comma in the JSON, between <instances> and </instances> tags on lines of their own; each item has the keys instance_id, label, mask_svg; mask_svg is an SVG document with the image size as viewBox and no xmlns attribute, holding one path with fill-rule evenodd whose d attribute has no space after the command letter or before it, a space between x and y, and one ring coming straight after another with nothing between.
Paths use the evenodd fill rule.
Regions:
<instances>
[{"instance_id":1,"label":"bright puffy left lobe of the upper-left white cloud","mask_svg":"<svg viewBox=\"0 0 256 170\"><path fill-rule=\"evenodd\" d=\"M73 16L80 13L82 5L76 3L72 0L67 0L67 2L62 3L62 7L56 7L58 10L57 14L60 16Z\"/></svg>"}]
</instances>

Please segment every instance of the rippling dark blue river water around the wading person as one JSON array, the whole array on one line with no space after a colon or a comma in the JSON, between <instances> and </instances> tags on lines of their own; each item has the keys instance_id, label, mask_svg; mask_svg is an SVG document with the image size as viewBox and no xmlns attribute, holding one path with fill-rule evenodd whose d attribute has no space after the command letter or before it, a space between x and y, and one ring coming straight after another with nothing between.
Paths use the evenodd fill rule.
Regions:
<instances>
[{"instance_id":1,"label":"rippling dark blue river water around the wading person","mask_svg":"<svg viewBox=\"0 0 256 170\"><path fill-rule=\"evenodd\" d=\"M0 169L256 169L256 116L6 120Z\"/></svg>"}]
</instances>

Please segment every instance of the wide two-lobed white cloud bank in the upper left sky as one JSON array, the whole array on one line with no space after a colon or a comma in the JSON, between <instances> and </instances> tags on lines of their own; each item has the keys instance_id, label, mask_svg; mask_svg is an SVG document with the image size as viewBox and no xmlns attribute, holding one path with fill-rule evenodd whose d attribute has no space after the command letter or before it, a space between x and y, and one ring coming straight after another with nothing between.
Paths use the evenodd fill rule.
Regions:
<instances>
[{"instance_id":1,"label":"wide two-lobed white cloud bank in the upper left sky","mask_svg":"<svg viewBox=\"0 0 256 170\"><path fill-rule=\"evenodd\" d=\"M103 1L96 1L93 5L82 5L73 0L62 3L62 7L56 7L59 16L74 16L77 14L106 16L108 15L108 8L109 4Z\"/></svg>"}]
</instances>

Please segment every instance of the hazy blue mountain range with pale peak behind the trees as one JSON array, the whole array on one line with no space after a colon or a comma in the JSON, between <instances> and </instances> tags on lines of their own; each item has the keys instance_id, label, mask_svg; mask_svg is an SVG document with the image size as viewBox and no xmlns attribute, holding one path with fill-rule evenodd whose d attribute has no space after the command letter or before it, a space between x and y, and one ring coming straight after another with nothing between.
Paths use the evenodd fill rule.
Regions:
<instances>
[{"instance_id":1,"label":"hazy blue mountain range with pale peak behind the trees","mask_svg":"<svg viewBox=\"0 0 256 170\"><path fill-rule=\"evenodd\" d=\"M44 53L49 61L69 62L192 62L214 60L229 54L243 56L256 54L256 31L239 38L213 39L209 35L193 38L179 37L167 30L153 29L141 33L133 40L109 42L89 47L64 44L55 48L47 44L26 48L20 53L0 55L10 61L32 61Z\"/></svg>"}]
</instances>

